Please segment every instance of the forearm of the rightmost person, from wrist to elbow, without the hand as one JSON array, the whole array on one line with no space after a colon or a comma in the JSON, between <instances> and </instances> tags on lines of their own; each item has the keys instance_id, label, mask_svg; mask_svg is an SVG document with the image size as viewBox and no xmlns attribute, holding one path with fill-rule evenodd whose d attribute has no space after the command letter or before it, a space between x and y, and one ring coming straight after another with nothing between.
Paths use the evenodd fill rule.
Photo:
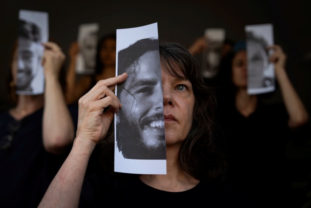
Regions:
<instances>
[{"instance_id":1,"label":"forearm of the rightmost person, from wrist to elbow, without the hand","mask_svg":"<svg viewBox=\"0 0 311 208\"><path fill-rule=\"evenodd\" d=\"M285 107L289 115L289 127L297 128L303 125L309 119L308 112L294 86L290 82L284 68L278 68L276 70L276 79L279 83Z\"/></svg>"}]
</instances>

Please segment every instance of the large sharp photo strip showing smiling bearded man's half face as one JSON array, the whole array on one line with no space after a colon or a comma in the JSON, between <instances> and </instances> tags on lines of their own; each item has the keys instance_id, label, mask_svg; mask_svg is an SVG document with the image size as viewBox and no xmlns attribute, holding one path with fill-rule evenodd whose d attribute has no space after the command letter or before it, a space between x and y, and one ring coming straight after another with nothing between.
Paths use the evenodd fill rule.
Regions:
<instances>
[{"instance_id":1,"label":"large sharp photo strip showing smiling bearded man's half face","mask_svg":"<svg viewBox=\"0 0 311 208\"><path fill-rule=\"evenodd\" d=\"M157 24L117 30L117 51L116 73L126 72L128 79L118 84L116 90L123 107L115 117L115 171L165 174Z\"/></svg>"}]
</instances>

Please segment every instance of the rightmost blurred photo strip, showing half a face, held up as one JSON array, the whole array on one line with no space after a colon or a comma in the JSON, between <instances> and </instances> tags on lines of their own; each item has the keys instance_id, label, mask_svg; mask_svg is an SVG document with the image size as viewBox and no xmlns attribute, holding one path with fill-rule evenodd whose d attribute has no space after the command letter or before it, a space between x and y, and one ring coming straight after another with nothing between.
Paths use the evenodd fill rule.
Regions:
<instances>
[{"instance_id":1,"label":"rightmost blurred photo strip, showing half a face, held up","mask_svg":"<svg viewBox=\"0 0 311 208\"><path fill-rule=\"evenodd\" d=\"M275 75L273 63L269 62L273 45L273 25L246 25L246 50L248 85L250 95L268 93L275 90Z\"/></svg>"}]
</instances>

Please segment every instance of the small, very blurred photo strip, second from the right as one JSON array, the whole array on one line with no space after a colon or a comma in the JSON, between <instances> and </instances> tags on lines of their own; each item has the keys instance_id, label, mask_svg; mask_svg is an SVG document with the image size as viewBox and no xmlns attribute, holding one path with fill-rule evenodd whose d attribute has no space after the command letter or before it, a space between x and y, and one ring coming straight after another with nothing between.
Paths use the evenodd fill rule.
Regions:
<instances>
[{"instance_id":1,"label":"small, very blurred photo strip, second from the right","mask_svg":"<svg viewBox=\"0 0 311 208\"><path fill-rule=\"evenodd\" d=\"M208 48L202 53L202 76L212 78L216 76L221 58L221 49L225 40L225 29L207 28L204 36L208 42Z\"/></svg>"}]
</instances>

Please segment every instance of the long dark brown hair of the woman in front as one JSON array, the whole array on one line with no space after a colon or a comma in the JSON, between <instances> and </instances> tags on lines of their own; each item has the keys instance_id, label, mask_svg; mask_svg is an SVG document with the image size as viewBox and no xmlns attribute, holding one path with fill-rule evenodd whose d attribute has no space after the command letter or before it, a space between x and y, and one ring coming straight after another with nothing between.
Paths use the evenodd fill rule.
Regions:
<instances>
[{"instance_id":1,"label":"long dark brown hair of the woman in front","mask_svg":"<svg viewBox=\"0 0 311 208\"><path fill-rule=\"evenodd\" d=\"M180 164L196 179L221 181L225 178L227 164L220 143L214 139L216 95L203 82L199 62L183 45L168 42L159 48L160 58L169 72L180 77L175 70L177 66L191 82L195 96L192 127L181 145Z\"/></svg>"}]
</instances>

